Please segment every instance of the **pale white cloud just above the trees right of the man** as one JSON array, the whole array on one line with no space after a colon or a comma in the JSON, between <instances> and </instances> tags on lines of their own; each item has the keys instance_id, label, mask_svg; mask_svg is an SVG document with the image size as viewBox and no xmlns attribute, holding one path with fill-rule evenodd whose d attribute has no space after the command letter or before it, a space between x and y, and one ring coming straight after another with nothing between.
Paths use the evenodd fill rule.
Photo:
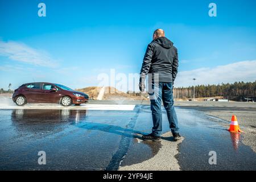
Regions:
<instances>
[{"instance_id":1,"label":"pale white cloud just above the trees right of the man","mask_svg":"<svg viewBox=\"0 0 256 182\"><path fill-rule=\"evenodd\" d=\"M196 85L255 81L256 60L240 61L214 68L199 68L191 71L179 72L175 80L175 86L191 86L193 85L193 78L196 78Z\"/></svg>"}]
</instances>

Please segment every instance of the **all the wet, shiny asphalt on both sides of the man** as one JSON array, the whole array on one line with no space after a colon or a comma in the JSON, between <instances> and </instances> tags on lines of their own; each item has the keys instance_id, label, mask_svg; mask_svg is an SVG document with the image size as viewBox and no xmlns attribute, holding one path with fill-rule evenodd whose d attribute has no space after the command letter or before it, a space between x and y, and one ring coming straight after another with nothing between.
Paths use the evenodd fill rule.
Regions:
<instances>
[{"instance_id":1,"label":"all the wet, shiny asphalt on both sides of the man","mask_svg":"<svg viewBox=\"0 0 256 182\"><path fill-rule=\"evenodd\" d=\"M163 132L168 130L163 109ZM255 170L256 155L202 111L176 107L181 170ZM150 106L134 110L0 110L1 170L117 170L154 157L161 143L138 142L152 127ZM164 138L163 138L164 139ZM46 165L38 152L46 152ZM208 162L216 151L217 164Z\"/></svg>"}]
</instances>

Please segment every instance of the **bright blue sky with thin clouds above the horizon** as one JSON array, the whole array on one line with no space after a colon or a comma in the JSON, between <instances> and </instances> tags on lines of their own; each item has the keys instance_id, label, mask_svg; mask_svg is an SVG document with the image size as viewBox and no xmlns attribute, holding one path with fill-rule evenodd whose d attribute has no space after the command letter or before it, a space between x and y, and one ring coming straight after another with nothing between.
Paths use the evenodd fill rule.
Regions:
<instances>
[{"instance_id":1,"label":"bright blue sky with thin clouds above the horizon","mask_svg":"<svg viewBox=\"0 0 256 182\"><path fill-rule=\"evenodd\" d=\"M46 4L46 17L38 4ZM217 5L217 17L208 5ZM179 51L176 86L256 80L256 1L0 1L0 88L24 82L97 86L139 73L152 32Z\"/></svg>"}]
</instances>

